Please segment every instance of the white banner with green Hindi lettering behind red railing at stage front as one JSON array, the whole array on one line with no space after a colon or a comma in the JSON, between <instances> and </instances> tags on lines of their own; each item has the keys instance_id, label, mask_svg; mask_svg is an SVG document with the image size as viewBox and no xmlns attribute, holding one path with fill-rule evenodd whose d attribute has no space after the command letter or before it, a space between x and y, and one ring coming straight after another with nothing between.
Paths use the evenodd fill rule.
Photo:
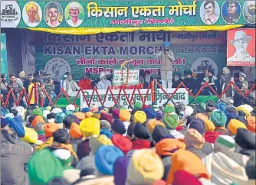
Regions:
<instances>
[{"instance_id":1,"label":"white banner with green Hindi lettering behind red railing at stage front","mask_svg":"<svg viewBox=\"0 0 256 185\"><path fill-rule=\"evenodd\" d=\"M170 95L172 94L176 89L166 89L166 92ZM103 99L106 95L107 90L97 90L100 96L101 101L103 102ZM133 94L133 89L126 89L126 95L128 96L128 99L130 100ZM112 90L113 92L113 96L114 98L117 100L118 98L118 93L120 92L120 90ZM143 96L143 99L146 96L146 92L147 89L139 89L140 94ZM136 90L134 92L133 95L133 102L142 102L139 96L139 92ZM90 97L93 93L93 90L86 90L84 91L84 95L87 97L87 102L90 101ZM94 92L94 96L92 98L91 103L94 103L97 106L101 106L100 105L100 99L97 96L97 94ZM156 102L157 105L162 106L164 103L167 102L168 97L166 96L166 93L162 91L162 89L157 89L157 97L156 97ZM184 103L184 105L188 105L189 104L189 93L186 91L186 89L184 88L180 88L176 91L176 93L174 94L174 96L172 97L172 101L173 102L182 102ZM108 92L107 97L106 97L106 102L104 103L104 106L110 107L113 106L115 104L115 102L113 102L113 98L110 94L110 92ZM120 94L120 101L119 101L120 105L129 105L126 96L124 95L124 93L122 92ZM146 96L146 102L145 105L151 105L152 104L152 94L151 94L151 90L149 90L148 95ZM84 99L84 96L82 95L82 93L80 93L80 105L87 105L86 101Z\"/></svg>"}]
</instances>

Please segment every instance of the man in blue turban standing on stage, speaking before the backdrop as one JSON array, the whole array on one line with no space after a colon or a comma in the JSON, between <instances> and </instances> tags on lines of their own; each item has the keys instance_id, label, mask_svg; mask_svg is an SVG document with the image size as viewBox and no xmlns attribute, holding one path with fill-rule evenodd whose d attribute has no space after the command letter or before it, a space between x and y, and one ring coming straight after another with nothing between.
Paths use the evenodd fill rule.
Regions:
<instances>
[{"instance_id":1,"label":"man in blue turban standing on stage, speaking before the backdrop","mask_svg":"<svg viewBox=\"0 0 256 185\"><path fill-rule=\"evenodd\" d=\"M174 62L174 54L170 50L171 44L169 42L164 42L162 44L163 50L159 52L156 56L161 58L161 79L162 88L172 88L172 63ZM167 83L167 84L166 84Z\"/></svg>"}]
</instances>

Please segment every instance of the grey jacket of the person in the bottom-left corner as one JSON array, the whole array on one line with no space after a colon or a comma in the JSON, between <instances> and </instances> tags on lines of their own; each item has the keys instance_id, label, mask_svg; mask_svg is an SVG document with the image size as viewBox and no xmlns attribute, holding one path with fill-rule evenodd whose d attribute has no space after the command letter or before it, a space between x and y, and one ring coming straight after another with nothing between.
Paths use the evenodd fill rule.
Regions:
<instances>
[{"instance_id":1,"label":"grey jacket of the person in the bottom-left corner","mask_svg":"<svg viewBox=\"0 0 256 185\"><path fill-rule=\"evenodd\" d=\"M17 142L17 135L1 131L1 184L28 185L25 171L29 157L33 153L31 146Z\"/></svg>"}]
</instances>

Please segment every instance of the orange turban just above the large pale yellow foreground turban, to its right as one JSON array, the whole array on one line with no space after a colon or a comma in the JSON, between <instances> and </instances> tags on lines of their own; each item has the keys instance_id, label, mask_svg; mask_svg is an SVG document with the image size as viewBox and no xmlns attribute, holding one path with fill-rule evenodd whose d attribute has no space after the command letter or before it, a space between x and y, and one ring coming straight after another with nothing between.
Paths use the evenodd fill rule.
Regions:
<instances>
[{"instance_id":1,"label":"orange turban just above the large pale yellow foreground turban, to its right","mask_svg":"<svg viewBox=\"0 0 256 185\"><path fill-rule=\"evenodd\" d=\"M185 150L185 143L174 138L165 138L156 144L156 154L159 156L173 155L176 149Z\"/></svg>"}]
</instances>

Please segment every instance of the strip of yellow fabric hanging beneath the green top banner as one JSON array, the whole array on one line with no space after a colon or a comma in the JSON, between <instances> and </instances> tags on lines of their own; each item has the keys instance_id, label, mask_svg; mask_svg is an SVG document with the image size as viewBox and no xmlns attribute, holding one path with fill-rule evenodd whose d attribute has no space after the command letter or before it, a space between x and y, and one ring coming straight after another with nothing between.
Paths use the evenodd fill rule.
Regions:
<instances>
[{"instance_id":1,"label":"strip of yellow fabric hanging beneath the green top banner","mask_svg":"<svg viewBox=\"0 0 256 185\"><path fill-rule=\"evenodd\" d=\"M100 34L113 32L133 32L133 31L227 31L240 28L243 25L233 24L225 26L179 26L179 27L147 27L147 28L28 28L32 31L44 31L52 34Z\"/></svg>"}]
</instances>

